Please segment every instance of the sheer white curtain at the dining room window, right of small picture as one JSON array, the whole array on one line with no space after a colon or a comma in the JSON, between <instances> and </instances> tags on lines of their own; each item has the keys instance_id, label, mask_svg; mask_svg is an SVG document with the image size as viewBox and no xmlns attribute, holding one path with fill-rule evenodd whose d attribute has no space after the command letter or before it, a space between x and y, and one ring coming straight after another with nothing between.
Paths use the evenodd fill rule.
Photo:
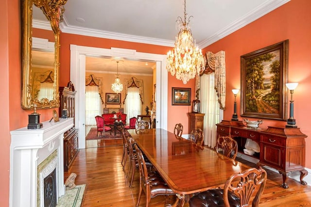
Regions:
<instances>
[{"instance_id":1,"label":"sheer white curtain at the dining room window, right of small picture","mask_svg":"<svg viewBox=\"0 0 311 207\"><path fill-rule=\"evenodd\" d=\"M214 89L215 73L200 77L201 113L204 116L204 143L214 148L216 145L216 124L223 120L223 110L219 109L217 92Z\"/></svg>"}]
</instances>

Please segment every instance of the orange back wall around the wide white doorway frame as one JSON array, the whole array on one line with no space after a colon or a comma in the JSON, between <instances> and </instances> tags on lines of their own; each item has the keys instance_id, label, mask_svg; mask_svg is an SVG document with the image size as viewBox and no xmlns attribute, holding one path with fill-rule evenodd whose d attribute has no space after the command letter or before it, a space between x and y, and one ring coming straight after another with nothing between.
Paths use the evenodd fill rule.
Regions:
<instances>
[{"instance_id":1,"label":"orange back wall around the wide white doorway frame","mask_svg":"<svg viewBox=\"0 0 311 207\"><path fill-rule=\"evenodd\" d=\"M125 42L120 40L111 40L97 37L88 37L76 34L61 34L61 53L60 53L60 85L66 85L70 77L70 44L78 46L87 46L94 48L126 48L136 49L137 52L146 52L154 54L167 54L172 49L170 47L148 45L141 43ZM186 85L181 80L176 80L169 74L168 77L168 130L173 131L176 123L182 123L185 131L188 131L188 116L191 106L172 106L172 87L192 88L191 100L194 98L194 80ZM143 108L144 109L144 108ZM180 112L183 111L183 112Z\"/></svg>"}]
</instances>

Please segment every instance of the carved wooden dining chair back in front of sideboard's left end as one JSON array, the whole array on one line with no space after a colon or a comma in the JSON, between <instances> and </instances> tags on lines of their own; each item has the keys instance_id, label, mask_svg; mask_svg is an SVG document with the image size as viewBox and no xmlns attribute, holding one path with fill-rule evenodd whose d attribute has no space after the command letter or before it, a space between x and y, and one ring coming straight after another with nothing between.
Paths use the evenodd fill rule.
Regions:
<instances>
[{"instance_id":1,"label":"carved wooden dining chair back in front of sideboard's left end","mask_svg":"<svg viewBox=\"0 0 311 207\"><path fill-rule=\"evenodd\" d=\"M235 159L238 154L238 143L231 137L218 137L216 146L217 153L222 153L228 158Z\"/></svg>"}]
</instances>

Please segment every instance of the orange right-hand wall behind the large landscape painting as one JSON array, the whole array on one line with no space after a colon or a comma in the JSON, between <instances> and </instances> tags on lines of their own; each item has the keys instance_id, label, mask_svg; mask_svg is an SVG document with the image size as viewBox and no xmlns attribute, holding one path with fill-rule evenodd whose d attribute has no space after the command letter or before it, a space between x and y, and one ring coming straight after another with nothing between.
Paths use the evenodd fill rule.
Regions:
<instances>
[{"instance_id":1,"label":"orange right-hand wall behind the large landscape painting","mask_svg":"<svg viewBox=\"0 0 311 207\"><path fill-rule=\"evenodd\" d=\"M226 110L224 119L230 120L233 114L234 96L232 89L240 89L240 56L266 46L289 39L288 81L299 82L294 90L294 118L296 125L308 136L306 139L306 158L311 156L311 1L292 0L275 11L261 17L218 42L204 51L225 50L226 64ZM289 95L290 99L290 95ZM240 114L240 93L237 96ZM257 120L256 118L250 118ZM242 117L239 117L242 120ZM286 121L264 120L262 128L285 126ZM311 168L311 159L306 159L306 167Z\"/></svg>"}]
</instances>

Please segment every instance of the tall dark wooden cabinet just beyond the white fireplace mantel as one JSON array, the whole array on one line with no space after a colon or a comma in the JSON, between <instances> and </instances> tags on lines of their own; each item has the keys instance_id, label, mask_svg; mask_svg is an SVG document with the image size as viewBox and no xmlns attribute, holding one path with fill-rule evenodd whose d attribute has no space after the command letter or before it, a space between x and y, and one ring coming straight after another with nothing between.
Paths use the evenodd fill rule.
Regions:
<instances>
[{"instance_id":1,"label":"tall dark wooden cabinet just beyond the white fireplace mantel","mask_svg":"<svg viewBox=\"0 0 311 207\"><path fill-rule=\"evenodd\" d=\"M68 118L74 117L75 91L67 87L59 87L59 116L65 107L68 110ZM67 172L70 164L78 153L78 129L74 126L64 133L64 171Z\"/></svg>"}]
</instances>

